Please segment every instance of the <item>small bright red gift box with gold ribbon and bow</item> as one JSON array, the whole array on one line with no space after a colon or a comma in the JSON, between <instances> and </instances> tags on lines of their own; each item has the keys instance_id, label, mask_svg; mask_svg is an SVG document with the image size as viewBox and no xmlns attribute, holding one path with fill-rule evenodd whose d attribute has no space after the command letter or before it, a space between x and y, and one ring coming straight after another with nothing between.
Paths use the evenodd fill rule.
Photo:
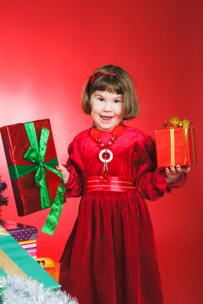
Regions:
<instances>
[{"instance_id":1,"label":"small bright red gift box with gold ribbon and bow","mask_svg":"<svg viewBox=\"0 0 203 304\"><path fill-rule=\"evenodd\" d=\"M168 124L173 127L166 128ZM180 121L173 116L170 121L155 130L156 157L158 167L190 166L197 163L194 124Z\"/></svg>"}]
</instances>

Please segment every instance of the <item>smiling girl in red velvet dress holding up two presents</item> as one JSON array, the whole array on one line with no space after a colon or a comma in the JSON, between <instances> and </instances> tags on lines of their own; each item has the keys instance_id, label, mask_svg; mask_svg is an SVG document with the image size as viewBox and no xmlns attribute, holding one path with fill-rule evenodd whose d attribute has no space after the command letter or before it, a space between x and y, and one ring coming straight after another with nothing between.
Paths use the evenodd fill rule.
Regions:
<instances>
[{"instance_id":1,"label":"smiling girl in red velvet dress holding up two presents","mask_svg":"<svg viewBox=\"0 0 203 304\"><path fill-rule=\"evenodd\" d=\"M124 120L139 106L129 74L99 67L82 97L92 128L69 146L66 197L81 197L61 257L62 289L80 304L162 304L152 222L145 199L182 187L189 167L157 168L155 143Z\"/></svg>"}]
</instances>

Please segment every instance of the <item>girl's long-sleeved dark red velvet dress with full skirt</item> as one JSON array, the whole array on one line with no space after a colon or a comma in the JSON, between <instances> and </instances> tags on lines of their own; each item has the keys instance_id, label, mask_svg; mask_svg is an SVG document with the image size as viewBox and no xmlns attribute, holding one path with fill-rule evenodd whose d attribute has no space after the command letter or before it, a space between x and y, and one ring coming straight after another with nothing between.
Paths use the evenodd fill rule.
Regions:
<instances>
[{"instance_id":1,"label":"girl's long-sleeved dark red velvet dress with full skirt","mask_svg":"<svg viewBox=\"0 0 203 304\"><path fill-rule=\"evenodd\" d=\"M107 143L110 131L101 132ZM126 192L83 192L86 177L101 174L100 147L81 132L69 146L66 197L80 197L79 214L61 257L60 284L79 304L162 304L162 288L152 222L145 199L155 201L182 187L181 174L167 187L156 168L154 140L124 126L112 146L110 175L132 178Z\"/></svg>"}]
</instances>

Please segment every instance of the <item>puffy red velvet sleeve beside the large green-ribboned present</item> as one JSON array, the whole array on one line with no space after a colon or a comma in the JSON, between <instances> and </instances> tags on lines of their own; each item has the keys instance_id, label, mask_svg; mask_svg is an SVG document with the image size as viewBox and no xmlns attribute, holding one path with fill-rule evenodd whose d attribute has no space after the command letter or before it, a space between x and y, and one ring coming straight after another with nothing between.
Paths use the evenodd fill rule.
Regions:
<instances>
[{"instance_id":1,"label":"puffy red velvet sleeve beside the large green-ribboned present","mask_svg":"<svg viewBox=\"0 0 203 304\"><path fill-rule=\"evenodd\" d=\"M80 197L83 195L84 175L82 171L83 157L77 141L73 141L68 148L69 159L65 165L70 172L69 180L65 183L65 196Z\"/></svg>"}]
</instances>

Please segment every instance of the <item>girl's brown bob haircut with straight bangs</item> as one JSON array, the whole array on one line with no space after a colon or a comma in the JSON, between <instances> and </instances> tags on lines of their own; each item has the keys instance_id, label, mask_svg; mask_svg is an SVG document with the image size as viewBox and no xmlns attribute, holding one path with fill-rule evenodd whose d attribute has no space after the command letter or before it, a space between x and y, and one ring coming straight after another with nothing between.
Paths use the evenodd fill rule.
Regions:
<instances>
[{"instance_id":1,"label":"girl's brown bob haircut with straight bangs","mask_svg":"<svg viewBox=\"0 0 203 304\"><path fill-rule=\"evenodd\" d=\"M114 73L114 75L102 75L96 77L92 84L85 85L82 94L82 108L85 114L91 114L90 98L95 91L107 91L122 95L123 111L121 116L125 120L135 118L139 113L139 104L134 91L132 80L129 74L121 67L114 65L104 65L94 71L94 73L103 71L104 73ZM94 74L93 73L93 74Z\"/></svg>"}]
</instances>

